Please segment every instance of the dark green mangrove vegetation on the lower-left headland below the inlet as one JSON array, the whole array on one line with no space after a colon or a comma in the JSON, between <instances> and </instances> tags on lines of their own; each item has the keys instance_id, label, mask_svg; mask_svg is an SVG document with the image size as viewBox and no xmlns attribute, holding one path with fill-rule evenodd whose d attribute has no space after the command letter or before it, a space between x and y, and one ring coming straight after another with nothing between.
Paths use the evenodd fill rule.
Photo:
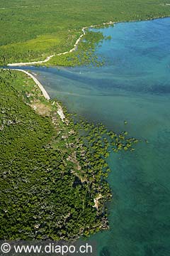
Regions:
<instances>
[{"instance_id":1,"label":"dark green mangrove vegetation on the lower-left headland below the inlet","mask_svg":"<svg viewBox=\"0 0 170 256\"><path fill-rule=\"evenodd\" d=\"M0 70L0 116L0 239L75 240L107 229L106 158L137 140L72 117L14 70Z\"/></svg>"}]
</instances>

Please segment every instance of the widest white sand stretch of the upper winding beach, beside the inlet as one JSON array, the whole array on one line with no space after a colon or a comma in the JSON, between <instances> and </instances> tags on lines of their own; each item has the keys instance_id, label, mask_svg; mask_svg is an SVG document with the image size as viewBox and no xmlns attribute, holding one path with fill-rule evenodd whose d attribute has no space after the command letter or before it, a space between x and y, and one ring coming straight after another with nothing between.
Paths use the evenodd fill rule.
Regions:
<instances>
[{"instance_id":1,"label":"widest white sand stretch of the upper winding beach, beside the inlet","mask_svg":"<svg viewBox=\"0 0 170 256\"><path fill-rule=\"evenodd\" d=\"M11 67L16 67L16 66L23 66L23 65L36 65L36 64L42 64L42 63L46 63L48 60L50 60L52 57L54 57L55 55L56 56L60 56L60 55L65 55L67 53L72 53L74 50L77 49L77 46L79 44L79 41L81 41L81 38L85 35L86 33L86 29L87 28L96 28L96 27L99 27L99 26L106 26L106 25L111 25L113 24L114 22L113 21L109 21L107 23L102 23L100 25L91 25L89 27L84 27L82 28L82 34L81 36L79 36L79 38L77 39L76 43L74 43L74 47L69 50L69 51L66 51L64 53L57 53L57 54L53 54L53 55L50 55L48 56L45 60L40 60L40 61L33 61L33 62L29 62L29 63L9 63L8 66L11 66Z\"/></svg>"}]
</instances>

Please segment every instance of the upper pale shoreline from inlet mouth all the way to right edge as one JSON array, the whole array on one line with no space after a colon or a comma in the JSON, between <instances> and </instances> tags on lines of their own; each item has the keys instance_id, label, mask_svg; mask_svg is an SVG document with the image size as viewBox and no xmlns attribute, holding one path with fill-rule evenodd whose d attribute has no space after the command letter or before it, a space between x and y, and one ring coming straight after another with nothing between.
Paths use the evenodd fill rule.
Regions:
<instances>
[{"instance_id":1,"label":"upper pale shoreline from inlet mouth all the way to right edge","mask_svg":"<svg viewBox=\"0 0 170 256\"><path fill-rule=\"evenodd\" d=\"M45 58L45 60L38 60L38 61L27 62L27 63L8 63L7 66L11 66L11 67L19 66L20 67L20 66L24 66L24 65L27 66L27 65L37 65L37 64L47 63L47 61L50 60L54 56L60 56L60 55L65 55L67 53L72 53L74 50L77 49L79 41L81 41L81 38L86 34L86 29L88 29L88 28L98 28L98 27L102 27L102 26L109 26L109 25L114 25L116 23L123 23L123 22L153 21L157 18L169 18L169 16L159 16L159 17L155 17L155 18L148 18L148 19L145 19L145 20L139 19L139 20L132 20L132 21L108 21L106 23L101 23L101 24L98 24L98 25L85 26L81 29L81 31L83 33L81 34L81 36L79 36L76 43L74 43L74 47L71 50L68 50L64 53L52 54L52 55L48 56L47 58Z\"/></svg>"}]
</instances>

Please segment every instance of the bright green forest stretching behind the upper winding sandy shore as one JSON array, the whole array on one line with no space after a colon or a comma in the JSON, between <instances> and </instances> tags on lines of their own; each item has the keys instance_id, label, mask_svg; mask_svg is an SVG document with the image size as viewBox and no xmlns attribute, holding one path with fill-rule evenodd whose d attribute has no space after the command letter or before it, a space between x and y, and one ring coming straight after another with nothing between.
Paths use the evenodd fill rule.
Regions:
<instances>
[{"instance_id":1,"label":"bright green forest stretching behind the upper winding sandy shore","mask_svg":"<svg viewBox=\"0 0 170 256\"><path fill-rule=\"evenodd\" d=\"M169 0L1 0L0 63L42 60L69 50L84 26L169 16L168 3Z\"/></svg>"}]
</instances>

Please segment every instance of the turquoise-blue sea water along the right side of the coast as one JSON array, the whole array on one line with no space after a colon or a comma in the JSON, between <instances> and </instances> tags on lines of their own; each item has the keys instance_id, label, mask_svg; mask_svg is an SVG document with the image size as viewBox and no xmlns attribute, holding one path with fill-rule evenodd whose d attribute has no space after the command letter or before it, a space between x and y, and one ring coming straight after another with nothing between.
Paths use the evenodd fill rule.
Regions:
<instances>
[{"instance_id":1,"label":"turquoise-blue sea water along the right side of the coast","mask_svg":"<svg viewBox=\"0 0 170 256\"><path fill-rule=\"evenodd\" d=\"M170 255L170 18L99 31L112 36L96 49L103 67L33 72L70 112L144 141L108 160L111 229L91 238L98 255Z\"/></svg>"}]
</instances>

